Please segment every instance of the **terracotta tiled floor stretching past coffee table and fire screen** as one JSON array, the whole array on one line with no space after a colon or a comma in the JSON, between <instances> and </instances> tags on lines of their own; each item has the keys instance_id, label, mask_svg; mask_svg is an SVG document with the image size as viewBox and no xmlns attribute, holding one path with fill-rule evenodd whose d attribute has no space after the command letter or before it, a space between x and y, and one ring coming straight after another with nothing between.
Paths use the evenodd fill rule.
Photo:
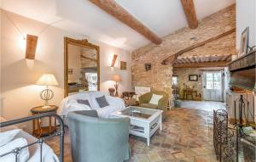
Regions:
<instances>
[{"instance_id":1,"label":"terracotta tiled floor stretching past coffee table and fire screen","mask_svg":"<svg viewBox=\"0 0 256 162\"><path fill-rule=\"evenodd\" d=\"M212 144L212 112L198 109L172 109L150 146L146 140L131 136L131 162L217 161ZM56 139L48 142L58 147ZM55 149L55 151L58 151ZM71 160L68 131L65 135L65 161Z\"/></svg>"}]
</instances>

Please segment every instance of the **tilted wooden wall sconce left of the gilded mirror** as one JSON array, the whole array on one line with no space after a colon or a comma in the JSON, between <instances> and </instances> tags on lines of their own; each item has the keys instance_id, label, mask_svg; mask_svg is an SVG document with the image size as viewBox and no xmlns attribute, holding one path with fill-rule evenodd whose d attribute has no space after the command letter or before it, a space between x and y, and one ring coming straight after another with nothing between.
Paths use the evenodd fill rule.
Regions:
<instances>
[{"instance_id":1,"label":"tilted wooden wall sconce left of the gilded mirror","mask_svg":"<svg viewBox=\"0 0 256 162\"><path fill-rule=\"evenodd\" d=\"M26 35L26 59L35 59L38 36Z\"/></svg>"}]
</instances>

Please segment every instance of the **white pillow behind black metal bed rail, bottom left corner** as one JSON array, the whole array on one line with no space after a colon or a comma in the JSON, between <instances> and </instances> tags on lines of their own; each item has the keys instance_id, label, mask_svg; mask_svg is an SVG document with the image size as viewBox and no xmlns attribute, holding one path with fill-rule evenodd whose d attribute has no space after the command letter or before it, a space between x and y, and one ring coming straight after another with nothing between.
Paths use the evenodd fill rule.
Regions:
<instances>
[{"instance_id":1,"label":"white pillow behind black metal bed rail, bottom left corner","mask_svg":"<svg viewBox=\"0 0 256 162\"><path fill-rule=\"evenodd\" d=\"M20 148L26 146L27 142L25 138L17 138L11 142L0 147L0 154L8 153L15 148ZM29 158L29 151L28 148L23 148L20 150L20 154L18 155L18 161L25 162ZM15 161L15 154L8 154L0 158L0 161Z\"/></svg>"}]
</instances>

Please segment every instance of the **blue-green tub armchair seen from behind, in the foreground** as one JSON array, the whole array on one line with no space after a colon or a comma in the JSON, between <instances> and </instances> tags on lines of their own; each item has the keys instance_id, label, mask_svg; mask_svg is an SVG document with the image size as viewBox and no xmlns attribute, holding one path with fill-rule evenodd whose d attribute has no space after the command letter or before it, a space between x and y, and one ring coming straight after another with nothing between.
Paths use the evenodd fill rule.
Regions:
<instances>
[{"instance_id":1,"label":"blue-green tub armchair seen from behind, in the foreground","mask_svg":"<svg viewBox=\"0 0 256 162\"><path fill-rule=\"evenodd\" d=\"M67 114L73 162L130 159L129 118L102 119L96 110Z\"/></svg>"}]
</instances>

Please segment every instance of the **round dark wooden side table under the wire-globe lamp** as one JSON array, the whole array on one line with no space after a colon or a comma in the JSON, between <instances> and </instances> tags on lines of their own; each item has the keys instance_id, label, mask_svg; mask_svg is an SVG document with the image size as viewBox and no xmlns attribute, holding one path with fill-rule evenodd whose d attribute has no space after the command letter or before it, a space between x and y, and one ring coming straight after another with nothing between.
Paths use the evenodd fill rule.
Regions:
<instances>
[{"instance_id":1,"label":"round dark wooden side table under the wire-globe lamp","mask_svg":"<svg viewBox=\"0 0 256 162\"><path fill-rule=\"evenodd\" d=\"M32 115L39 115L43 113L57 113L58 107L55 105L50 105L49 109L42 109L43 106L38 106L32 108L30 111L32 112ZM52 126L52 118L54 118L54 126ZM36 137L42 137L49 135L56 131L56 118L55 117L49 117L49 126L41 126L42 121L41 119L33 120L33 135Z\"/></svg>"}]
</instances>

